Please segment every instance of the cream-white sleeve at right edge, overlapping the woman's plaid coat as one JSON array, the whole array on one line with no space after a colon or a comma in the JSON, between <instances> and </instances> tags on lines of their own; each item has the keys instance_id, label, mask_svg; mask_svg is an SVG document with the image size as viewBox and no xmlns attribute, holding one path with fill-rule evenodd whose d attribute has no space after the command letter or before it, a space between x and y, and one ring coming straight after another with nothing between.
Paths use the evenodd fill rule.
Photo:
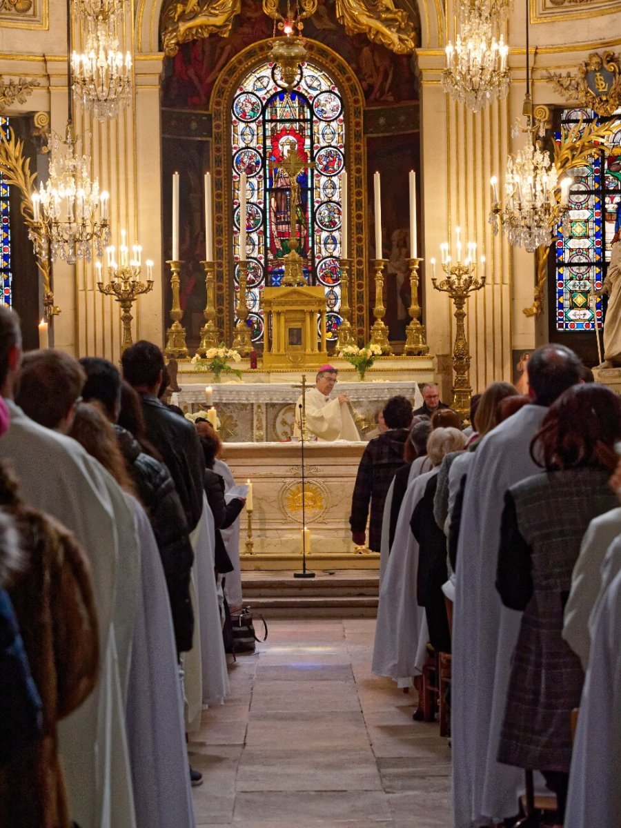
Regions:
<instances>
[{"instance_id":1,"label":"cream-white sleeve at right edge, overlapping the woman's plaid coat","mask_svg":"<svg viewBox=\"0 0 621 828\"><path fill-rule=\"evenodd\" d=\"M582 667L589 665L589 617L601 589L601 566L606 551L621 534L621 507L595 517L586 530L580 555L571 574L571 590L565 605L563 638L580 657Z\"/></svg>"}]
</instances>

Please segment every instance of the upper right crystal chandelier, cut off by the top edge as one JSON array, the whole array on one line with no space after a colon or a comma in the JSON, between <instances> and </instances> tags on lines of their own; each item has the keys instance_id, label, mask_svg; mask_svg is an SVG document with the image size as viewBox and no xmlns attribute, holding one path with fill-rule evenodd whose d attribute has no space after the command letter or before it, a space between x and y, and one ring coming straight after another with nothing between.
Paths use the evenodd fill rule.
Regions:
<instances>
[{"instance_id":1,"label":"upper right crystal chandelier, cut off by the top edge","mask_svg":"<svg viewBox=\"0 0 621 828\"><path fill-rule=\"evenodd\" d=\"M446 46L446 68L442 85L456 101L473 112L493 99L502 100L508 91L511 73L507 66L508 46L492 34L493 7L469 0L460 7L460 33L455 46Z\"/></svg>"}]
</instances>

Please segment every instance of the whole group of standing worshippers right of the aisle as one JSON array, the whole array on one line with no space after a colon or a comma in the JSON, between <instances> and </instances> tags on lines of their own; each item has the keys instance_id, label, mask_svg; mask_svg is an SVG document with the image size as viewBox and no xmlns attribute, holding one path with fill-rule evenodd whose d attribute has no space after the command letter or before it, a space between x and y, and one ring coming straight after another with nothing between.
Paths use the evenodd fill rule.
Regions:
<instances>
[{"instance_id":1,"label":"whole group of standing worshippers right of the aisle","mask_svg":"<svg viewBox=\"0 0 621 828\"><path fill-rule=\"evenodd\" d=\"M614 828L621 402L564 346L527 378L474 395L463 430L435 384L384 407L350 518L380 553L372 669L417 689L414 720L449 711L455 828L534 819L536 794L546 825Z\"/></svg>"}]
</instances>

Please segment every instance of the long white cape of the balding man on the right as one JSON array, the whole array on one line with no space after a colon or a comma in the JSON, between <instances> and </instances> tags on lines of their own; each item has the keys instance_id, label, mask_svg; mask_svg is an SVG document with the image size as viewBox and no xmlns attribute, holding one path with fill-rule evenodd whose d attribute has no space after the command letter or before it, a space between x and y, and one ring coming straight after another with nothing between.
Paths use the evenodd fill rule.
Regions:
<instances>
[{"instance_id":1,"label":"long white cape of the balding man on the right","mask_svg":"<svg viewBox=\"0 0 621 828\"><path fill-rule=\"evenodd\" d=\"M546 416L524 406L490 431L470 461L455 573L451 746L455 828L513 816L524 772L496 761L522 614L496 591L504 493L541 472L530 456Z\"/></svg>"}]
</instances>

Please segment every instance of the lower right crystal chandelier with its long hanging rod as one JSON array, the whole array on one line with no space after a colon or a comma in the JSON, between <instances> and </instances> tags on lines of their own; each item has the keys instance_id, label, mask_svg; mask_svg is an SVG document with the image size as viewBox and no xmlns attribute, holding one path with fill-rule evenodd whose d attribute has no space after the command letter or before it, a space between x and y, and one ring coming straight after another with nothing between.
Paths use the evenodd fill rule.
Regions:
<instances>
[{"instance_id":1,"label":"lower right crystal chandelier with its long hanging rod","mask_svg":"<svg viewBox=\"0 0 621 828\"><path fill-rule=\"evenodd\" d=\"M508 156L507 172L504 178L505 202L501 205L498 197L498 180L490 181L492 186L492 209L489 224L494 235L502 229L508 243L523 247L527 253L534 253L539 247L552 243L556 226L561 221L564 231L569 220L569 193L571 179L565 176L558 180L556 166L550 152L543 147L546 134L548 110L546 107L533 109L528 65L528 0L526 15L526 96L522 108L526 118L525 126L517 124L512 136L525 133L527 144L515 156ZM560 190L560 192L559 192Z\"/></svg>"}]
</instances>

